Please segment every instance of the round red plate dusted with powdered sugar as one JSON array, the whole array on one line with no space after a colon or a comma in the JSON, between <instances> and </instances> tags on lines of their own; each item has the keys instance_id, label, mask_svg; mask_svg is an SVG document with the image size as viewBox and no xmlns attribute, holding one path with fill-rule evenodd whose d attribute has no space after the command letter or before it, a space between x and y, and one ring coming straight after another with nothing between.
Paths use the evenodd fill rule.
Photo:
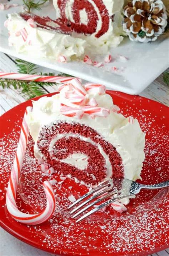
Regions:
<instances>
[{"instance_id":1,"label":"round red plate dusted with powdered sugar","mask_svg":"<svg viewBox=\"0 0 169 256\"><path fill-rule=\"evenodd\" d=\"M121 112L137 118L146 132L143 166L143 183L153 184L169 179L167 172L167 132L168 108L152 100L130 96L119 92L108 92ZM51 96L52 94L48 95ZM37 226L26 226L14 221L5 206L5 194L14 160L20 126L26 106L24 102L1 117L1 226L32 246L61 255L148 255L168 247L167 237L167 192L163 190L143 190L130 201L128 210L119 214L110 207L106 212L98 212L89 219L76 224L67 210L68 196L79 197L87 191L70 179L56 184L56 211L52 218ZM17 193L19 209L27 213L41 211L45 207L45 195L39 166L33 157L33 142L30 138L21 172ZM72 189L70 188L72 187ZM4 197L4 198L3 198Z\"/></svg>"}]
</instances>

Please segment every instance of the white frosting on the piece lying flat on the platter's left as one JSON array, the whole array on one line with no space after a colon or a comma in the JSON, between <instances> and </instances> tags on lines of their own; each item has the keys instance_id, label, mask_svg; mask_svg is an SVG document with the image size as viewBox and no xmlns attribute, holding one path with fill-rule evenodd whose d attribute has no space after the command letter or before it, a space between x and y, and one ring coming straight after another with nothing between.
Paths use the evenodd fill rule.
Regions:
<instances>
[{"instance_id":1,"label":"white frosting on the piece lying flat on the platter's left","mask_svg":"<svg viewBox=\"0 0 169 256\"><path fill-rule=\"evenodd\" d=\"M9 14L7 29L9 30L9 45L13 45L17 52L27 53L38 57L58 60L60 55L67 61L80 57L84 53L85 40L73 38L71 35L60 34L42 28L32 28L18 14ZM53 24L52 24L53 25ZM55 26L57 26L55 24ZM28 34L26 42L17 32L25 28Z\"/></svg>"}]
</instances>

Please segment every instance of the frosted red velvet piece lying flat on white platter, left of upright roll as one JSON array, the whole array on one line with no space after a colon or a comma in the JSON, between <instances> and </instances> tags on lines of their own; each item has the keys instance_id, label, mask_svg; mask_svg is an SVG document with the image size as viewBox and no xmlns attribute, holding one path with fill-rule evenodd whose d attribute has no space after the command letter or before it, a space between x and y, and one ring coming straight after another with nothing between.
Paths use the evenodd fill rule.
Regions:
<instances>
[{"instance_id":1,"label":"frosted red velvet piece lying flat on white platter, left of upright roll","mask_svg":"<svg viewBox=\"0 0 169 256\"><path fill-rule=\"evenodd\" d=\"M66 62L84 54L86 41L72 37L62 22L26 13L9 14L5 21L9 45L19 53Z\"/></svg>"}]
</instances>

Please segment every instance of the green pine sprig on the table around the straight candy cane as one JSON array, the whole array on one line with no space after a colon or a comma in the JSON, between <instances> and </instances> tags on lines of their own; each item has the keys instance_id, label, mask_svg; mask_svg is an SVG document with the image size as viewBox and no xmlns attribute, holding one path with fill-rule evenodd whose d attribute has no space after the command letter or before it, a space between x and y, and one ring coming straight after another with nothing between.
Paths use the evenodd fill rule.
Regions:
<instances>
[{"instance_id":1,"label":"green pine sprig on the table around the straight candy cane","mask_svg":"<svg viewBox=\"0 0 169 256\"><path fill-rule=\"evenodd\" d=\"M36 74L38 67L30 62L22 61L21 59L16 59L16 66L19 73L22 74ZM55 76L55 73L40 73L39 76ZM69 76L68 74L60 73L58 76ZM48 82L36 82L36 81L22 81L14 79L4 79L0 78L0 86L4 88L13 87L15 90L21 89L22 96L29 100L37 96L45 95L47 90L44 86L53 86L57 83Z\"/></svg>"}]
</instances>

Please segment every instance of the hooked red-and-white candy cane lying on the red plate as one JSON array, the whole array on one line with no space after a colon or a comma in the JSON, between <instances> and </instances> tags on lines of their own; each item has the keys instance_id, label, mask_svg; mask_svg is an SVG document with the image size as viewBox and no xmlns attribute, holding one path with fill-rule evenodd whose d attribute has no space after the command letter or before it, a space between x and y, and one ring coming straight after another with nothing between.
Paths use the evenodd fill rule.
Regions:
<instances>
[{"instance_id":1,"label":"hooked red-and-white candy cane lying on the red plate","mask_svg":"<svg viewBox=\"0 0 169 256\"><path fill-rule=\"evenodd\" d=\"M37 214L27 214L19 211L16 205L16 191L17 183L20 177L22 163L26 151L26 145L28 143L29 129L26 123L27 112L31 112L32 108L27 107L24 119L21 127L21 134L17 151L15 155L14 164L12 166L11 175L6 192L6 206L11 216L16 220L24 224L40 224L50 218L55 210L55 194L50 182L43 182L43 188L46 194L46 208Z\"/></svg>"}]
</instances>

